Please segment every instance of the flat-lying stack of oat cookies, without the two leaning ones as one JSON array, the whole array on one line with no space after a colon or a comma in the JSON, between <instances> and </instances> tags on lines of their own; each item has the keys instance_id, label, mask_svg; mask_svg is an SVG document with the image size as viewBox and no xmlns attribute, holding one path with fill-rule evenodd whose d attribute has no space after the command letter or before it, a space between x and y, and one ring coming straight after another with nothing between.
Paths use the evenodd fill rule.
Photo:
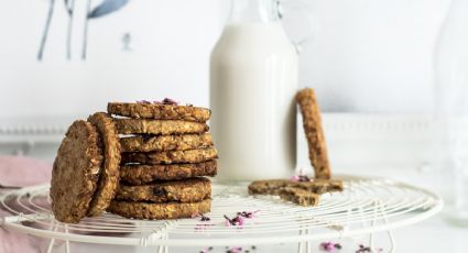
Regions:
<instances>
[{"instance_id":1,"label":"flat-lying stack of oat cookies, without the two leaning ones","mask_svg":"<svg viewBox=\"0 0 468 253\"><path fill-rule=\"evenodd\" d=\"M108 211L135 219L188 218L210 209L217 151L210 110L163 102L111 102L120 134L120 186Z\"/></svg>"}]
</instances>

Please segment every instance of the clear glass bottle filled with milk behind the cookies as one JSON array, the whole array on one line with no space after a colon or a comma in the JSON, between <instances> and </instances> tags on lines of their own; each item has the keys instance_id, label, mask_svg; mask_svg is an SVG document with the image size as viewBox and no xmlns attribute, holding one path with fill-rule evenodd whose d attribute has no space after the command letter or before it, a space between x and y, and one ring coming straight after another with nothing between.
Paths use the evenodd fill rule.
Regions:
<instances>
[{"instance_id":1,"label":"clear glass bottle filled with milk behind the cookies","mask_svg":"<svg viewBox=\"0 0 468 253\"><path fill-rule=\"evenodd\" d=\"M232 0L211 52L210 130L219 180L294 173L298 58L279 8L274 0Z\"/></svg>"}]
</instances>

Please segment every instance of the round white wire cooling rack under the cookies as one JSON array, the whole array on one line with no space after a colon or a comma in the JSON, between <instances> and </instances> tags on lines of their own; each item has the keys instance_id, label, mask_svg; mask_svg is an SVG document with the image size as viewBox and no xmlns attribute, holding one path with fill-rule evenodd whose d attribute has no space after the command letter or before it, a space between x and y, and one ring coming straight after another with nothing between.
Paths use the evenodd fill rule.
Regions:
<instances>
[{"instance_id":1,"label":"round white wire cooling rack under the cookies","mask_svg":"<svg viewBox=\"0 0 468 253\"><path fill-rule=\"evenodd\" d=\"M300 243L309 252L309 242L385 231L391 245L392 229L420 222L438 212L442 199L434 193L388 179L341 177L342 193L322 195L317 207L300 207L275 197L252 197L247 184L213 185L209 221L192 219L149 221L124 219L111 213L85 218L78 224L54 219L50 209L48 185L11 191L0 197L3 209L12 213L1 226L21 233L55 240L115 245L207 246L239 244ZM251 211L242 226L228 226L227 217ZM390 250L392 252L392 250Z\"/></svg>"}]
</instances>

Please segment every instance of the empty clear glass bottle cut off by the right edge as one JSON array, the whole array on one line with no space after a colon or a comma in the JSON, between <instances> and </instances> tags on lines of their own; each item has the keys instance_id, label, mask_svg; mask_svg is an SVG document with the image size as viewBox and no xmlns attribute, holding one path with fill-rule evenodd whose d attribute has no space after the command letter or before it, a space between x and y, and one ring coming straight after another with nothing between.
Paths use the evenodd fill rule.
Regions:
<instances>
[{"instance_id":1,"label":"empty clear glass bottle cut off by the right edge","mask_svg":"<svg viewBox=\"0 0 468 253\"><path fill-rule=\"evenodd\" d=\"M468 224L468 1L453 0L436 52L435 165L446 211Z\"/></svg>"}]
</instances>

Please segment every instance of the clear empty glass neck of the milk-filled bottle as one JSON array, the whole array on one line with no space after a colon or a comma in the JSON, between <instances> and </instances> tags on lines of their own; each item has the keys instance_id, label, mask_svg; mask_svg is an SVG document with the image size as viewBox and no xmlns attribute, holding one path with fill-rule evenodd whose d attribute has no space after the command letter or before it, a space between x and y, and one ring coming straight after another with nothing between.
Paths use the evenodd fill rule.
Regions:
<instances>
[{"instance_id":1,"label":"clear empty glass neck of the milk-filled bottle","mask_svg":"<svg viewBox=\"0 0 468 253\"><path fill-rule=\"evenodd\" d=\"M232 0L228 23L271 23L279 13L276 0Z\"/></svg>"}]
</instances>

